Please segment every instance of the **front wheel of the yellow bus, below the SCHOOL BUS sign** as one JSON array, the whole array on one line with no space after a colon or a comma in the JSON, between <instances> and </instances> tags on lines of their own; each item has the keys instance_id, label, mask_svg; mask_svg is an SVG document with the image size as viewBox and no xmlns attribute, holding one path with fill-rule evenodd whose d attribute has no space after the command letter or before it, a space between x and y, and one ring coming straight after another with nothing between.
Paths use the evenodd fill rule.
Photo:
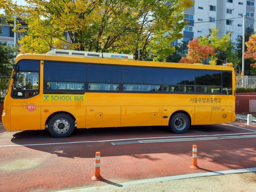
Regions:
<instances>
[{"instance_id":1,"label":"front wheel of the yellow bus, below the SCHOOL BUS sign","mask_svg":"<svg viewBox=\"0 0 256 192\"><path fill-rule=\"evenodd\" d=\"M48 131L56 138L70 136L75 129L75 120L68 114L59 113L49 120Z\"/></svg>"}]
</instances>

